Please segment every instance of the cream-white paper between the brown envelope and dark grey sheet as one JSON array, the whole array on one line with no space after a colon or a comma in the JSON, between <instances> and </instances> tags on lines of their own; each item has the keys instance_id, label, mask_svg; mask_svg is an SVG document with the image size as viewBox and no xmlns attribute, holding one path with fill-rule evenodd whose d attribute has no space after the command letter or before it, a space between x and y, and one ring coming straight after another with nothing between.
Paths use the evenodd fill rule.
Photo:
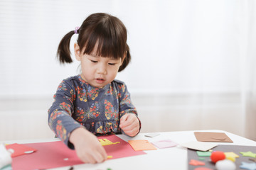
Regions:
<instances>
[{"instance_id":1,"label":"cream-white paper between the brown envelope and dark grey sheet","mask_svg":"<svg viewBox=\"0 0 256 170\"><path fill-rule=\"evenodd\" d=\"M195 149L198 151L208 151L209 149L212 149L213 147L216 147L216 144L208 143L208 142L197 142L197 141L191 141L181 144L181 147L186 147L189 149Z\"/></svg>"}]
</instances>

